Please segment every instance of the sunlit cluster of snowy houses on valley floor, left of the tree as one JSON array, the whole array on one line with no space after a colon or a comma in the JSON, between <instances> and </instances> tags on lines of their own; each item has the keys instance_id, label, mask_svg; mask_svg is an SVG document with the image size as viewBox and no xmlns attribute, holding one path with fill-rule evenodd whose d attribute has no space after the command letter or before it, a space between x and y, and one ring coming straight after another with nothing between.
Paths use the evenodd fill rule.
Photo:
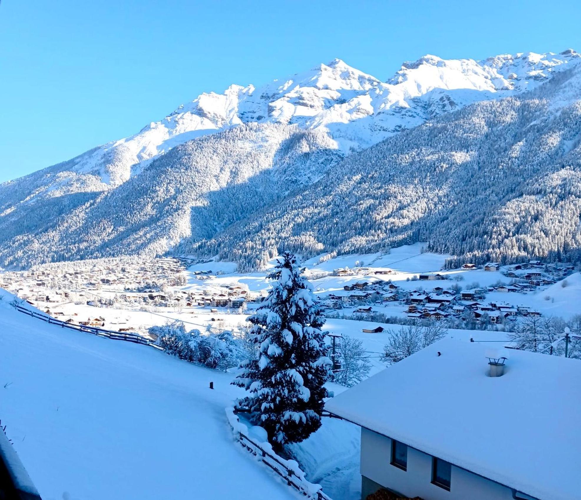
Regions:
<instances>
[{"instance_id":1,"label":"sunlit cluster of snowy houses on valley floor, left of the tree","mask_svg":"<svg viewBox=\"0 0 581 500\"><path fill-rule=\"evenodd\" d=\"M9 290L46 314L68 323L102 327L101 316L81 321L77 314L59 311L62 305L75 303L112 306L115 303L131 307L211 307L239 310L249 302L259 302L263 294L251 294L247 287L209 286L202 290L182 290L186 284L182 274L189 261L167 257L148 260L124 259L64 262L46 264L30 271L0 274L0 287ZM205 276L199 272L198 278ZM193 313L192 313L193 314ZM114 328L109 326L107 328ZM123 326L120 331L125 330Z\"/></svg>"}]
</instances>

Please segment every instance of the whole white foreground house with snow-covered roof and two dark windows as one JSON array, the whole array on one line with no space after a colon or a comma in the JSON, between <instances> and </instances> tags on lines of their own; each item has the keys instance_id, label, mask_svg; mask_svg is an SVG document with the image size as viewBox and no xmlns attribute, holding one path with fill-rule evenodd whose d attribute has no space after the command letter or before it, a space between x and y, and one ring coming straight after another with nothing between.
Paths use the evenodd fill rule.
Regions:
<instances>
[{"instance_id":1,"label":"whole white foreground house with snow-covered roof and two dark windows","mask_svg":"<svg viewBox=\"0 0 581 500\"><path fill-rule=\"evenodd\" d=\"M581 433L555 433L555 415L578 422L581 364L489 349L443 339L325 403L361 426L362 499L579 499ZM503 418L490 418L491 401Z\"/></svg>"}]
</instances>

